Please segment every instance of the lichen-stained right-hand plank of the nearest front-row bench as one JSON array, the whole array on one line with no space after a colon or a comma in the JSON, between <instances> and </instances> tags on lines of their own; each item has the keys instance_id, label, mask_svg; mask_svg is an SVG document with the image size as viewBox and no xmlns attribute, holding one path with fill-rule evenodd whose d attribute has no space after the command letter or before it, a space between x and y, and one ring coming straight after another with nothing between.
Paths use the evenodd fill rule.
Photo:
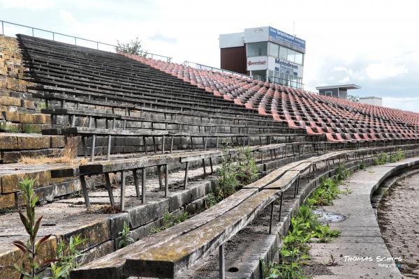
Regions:
<instances>
[{"instance_id":1,"label":"lichen-stained right-hand plank of the nearest front-row bench","mask_svg":"<svg viewBox=\"0 0 419 279\"><path fill-rule=\"evenodd\" d=\"M210 255L221 243L246 227L280 193L279 190L256 193L234 209L164 245L140 251L131 249L131 255L124 264L124 276L175 278L179 271Z\"/></svg>"}]
</instances>

